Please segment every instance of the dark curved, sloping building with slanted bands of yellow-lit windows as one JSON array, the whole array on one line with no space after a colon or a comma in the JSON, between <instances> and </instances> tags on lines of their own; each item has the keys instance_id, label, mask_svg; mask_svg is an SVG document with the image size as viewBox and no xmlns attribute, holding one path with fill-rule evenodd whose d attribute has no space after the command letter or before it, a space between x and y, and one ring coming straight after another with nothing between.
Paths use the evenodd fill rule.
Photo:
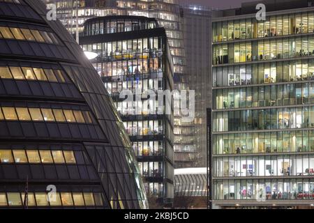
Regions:
<instances>
[{"instance_id":1,"label":"dark curved, sloping building with slanted bands of yellow-lit windows","mask_svg":"<svg viewBox=\"0 0 314 223\"><path fill-rule=\"evenodd\" d=\"M0 208L147 208L110 95L46 13L0 1Z\"/></svg>"}]
</instances>

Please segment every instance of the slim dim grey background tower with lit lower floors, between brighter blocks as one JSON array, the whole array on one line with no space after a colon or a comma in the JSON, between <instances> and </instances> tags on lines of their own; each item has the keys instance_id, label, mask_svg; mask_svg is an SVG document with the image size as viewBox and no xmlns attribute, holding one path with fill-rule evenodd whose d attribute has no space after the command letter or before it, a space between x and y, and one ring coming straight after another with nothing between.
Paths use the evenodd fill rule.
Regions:
<instances>
[{"instance_id":1,"label":"slim dim grey background tower with lit lower floors, between brighter blocks","mask_svg":"<svg viewBox=\"0 0 314 223\"><path fill-rule=\"evenodd\" d=\"M176 168L207 167L206 118L211 107L211 9L195 5L180 7L186 55L188 89L195 91L195 118L174 128L182 146L174 148ZM179 121L179 120L176 120Z\"/></svg>"}]
</instances>

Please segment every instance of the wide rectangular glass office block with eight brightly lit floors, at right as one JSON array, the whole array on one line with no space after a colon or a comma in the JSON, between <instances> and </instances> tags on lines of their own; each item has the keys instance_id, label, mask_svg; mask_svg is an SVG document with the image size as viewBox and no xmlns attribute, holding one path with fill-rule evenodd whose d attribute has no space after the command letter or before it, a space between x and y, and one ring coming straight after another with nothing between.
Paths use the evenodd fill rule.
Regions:
<instances>
[{"instance_id":1,"label":"wide rectangular glass office block with eight brightly lit floors, at right","mask_svg":"<svg viewBox=\"0 0 314 223\"><path fill-rule=\"evenodd\" d=\"M311 206L313 1L259 1L213 18L214 208Z\"/></svg>"}]
</instances>

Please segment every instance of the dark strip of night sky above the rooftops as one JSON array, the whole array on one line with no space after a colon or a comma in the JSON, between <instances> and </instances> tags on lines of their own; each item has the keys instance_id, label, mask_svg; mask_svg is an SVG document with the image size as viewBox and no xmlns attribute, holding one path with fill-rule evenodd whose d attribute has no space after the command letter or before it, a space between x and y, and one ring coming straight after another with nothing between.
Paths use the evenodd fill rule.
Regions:
<instances>
[{"instance_id":1,"label":"dark strip of night sky above the rooftops","mask_svg":"<svg viewBox=\"0 0 314 223\"><path fill-rule=\"evenodd\" d=\"M250 2L256 0L179 0L184 3L195 3L199 5L209 6L210 8L239 8L242 2Z\"/></svg>"}]
</instances>

